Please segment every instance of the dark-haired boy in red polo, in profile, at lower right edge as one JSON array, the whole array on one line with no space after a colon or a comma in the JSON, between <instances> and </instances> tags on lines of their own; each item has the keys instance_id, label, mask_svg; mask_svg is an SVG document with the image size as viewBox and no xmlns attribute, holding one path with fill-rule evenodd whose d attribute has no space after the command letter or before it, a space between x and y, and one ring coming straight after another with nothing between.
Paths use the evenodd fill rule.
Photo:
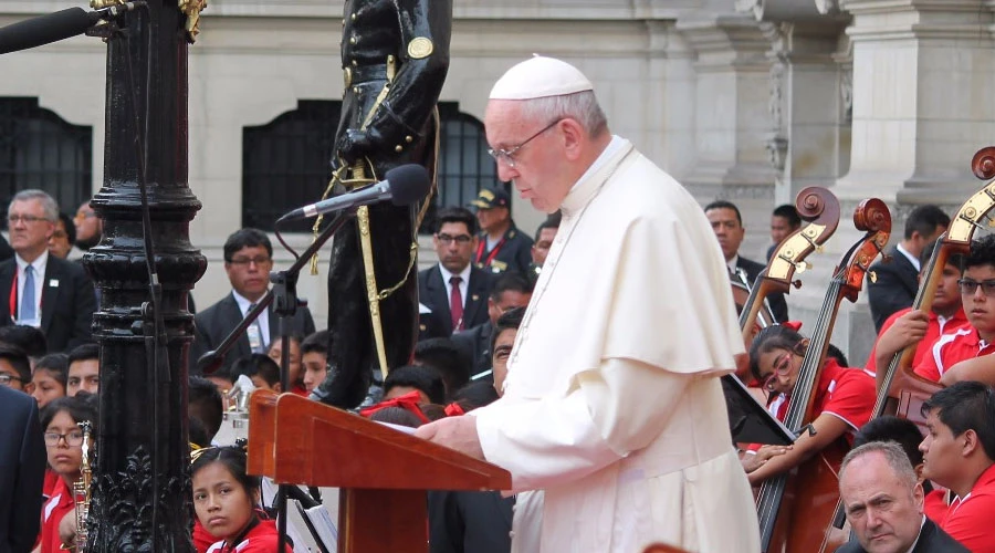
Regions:
<instances>
[{"instance_id":1,"label":"dark-haired boy in red polo, in profile, at lower right edge","mask_svg":"<svg viewBox=\"0 0 995 553\"><path fill-rule=\"evenodd\" d=\"M936 521L971 551L995 551L995 390L961 382L922 405L929 434L919 446L923 478L949 488L953 498Z\"/></svg>"}]
</instances>

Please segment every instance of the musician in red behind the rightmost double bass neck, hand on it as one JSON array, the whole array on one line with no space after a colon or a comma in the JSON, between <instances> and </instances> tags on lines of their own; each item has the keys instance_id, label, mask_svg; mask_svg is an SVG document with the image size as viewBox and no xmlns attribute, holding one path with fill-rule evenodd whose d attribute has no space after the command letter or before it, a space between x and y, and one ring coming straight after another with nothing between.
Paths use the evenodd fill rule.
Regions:
<instances>
[{"instance_id":1,"label":"musician in red behind the rightmost double bass neck, hand on it","mask_svg":"<svg viewBox=\"0 0 995 553\"><path fill-rule=\"evenodd\" d=\"M919 258L923 268L919 273L920 283L922 283L923 273L929 269L930 258L935 247L936 242L930 242ZM961 291L957 284L963 264L964 257L959 253L947 258L929 313L905 307L894 312L881 325L878 341L874 343L865 367L870 373L878 373L879 384L884 378L883 369L888 368L894 354L912 344L918 344L915 356L912 358L912 366L918 367L942 334L950 334L968 325L967 316L961 306ZM878 367L881 367L880 372Z\"/></svg>"}]
</instances>

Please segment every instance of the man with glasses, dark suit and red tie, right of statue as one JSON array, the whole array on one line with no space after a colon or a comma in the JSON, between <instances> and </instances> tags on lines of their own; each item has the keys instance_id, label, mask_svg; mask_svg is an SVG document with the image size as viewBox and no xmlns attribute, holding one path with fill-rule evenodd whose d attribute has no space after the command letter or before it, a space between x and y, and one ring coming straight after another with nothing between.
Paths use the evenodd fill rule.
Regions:
<instances>
[{"instance_id":1,"label":"man with glasses, dark suit and red tie, right of statue","mask_svg":"<svg viewBox=\"0 0 995 553\"><path fill-rule=\"evenodd\" d=\"M430 313L421 315L419 338L448 337L488 322L491 279L470 263L476 251L476 219L463 208L440 209L432 243L439 263L418 273L418 298Z\"/></svg>"}]
</instances>

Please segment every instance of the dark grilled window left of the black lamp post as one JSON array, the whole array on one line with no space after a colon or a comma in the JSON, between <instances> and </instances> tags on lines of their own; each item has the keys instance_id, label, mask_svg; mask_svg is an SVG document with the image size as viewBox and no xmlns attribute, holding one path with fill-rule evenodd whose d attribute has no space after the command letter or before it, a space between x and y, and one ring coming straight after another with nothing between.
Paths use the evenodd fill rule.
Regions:
<instances>
[{"instance_id":1,"label":"dark grilled window left of the black lamp post","mask_svg":"<svg viewBox=\"0 0 995 553\"><path fill-rule=\"evenodd\" d=\"M93 191L93 127L72 125L38 98L0 97L0 213L20 190L38 188L75 213ZM3 217L6 220L6 217Z\"/></svg>"}]
</instances>

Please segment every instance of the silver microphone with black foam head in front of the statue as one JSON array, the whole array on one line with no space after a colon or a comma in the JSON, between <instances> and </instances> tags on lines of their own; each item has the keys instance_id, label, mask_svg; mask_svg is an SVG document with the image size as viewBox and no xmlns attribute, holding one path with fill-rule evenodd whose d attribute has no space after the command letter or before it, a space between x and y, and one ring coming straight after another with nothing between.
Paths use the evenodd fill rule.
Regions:
<instances>
[{"instance_id":1,"label":"silver microphone with black foam head in front of the statue","mask_svg":"<svg viewBox=\"0 0 995 553\"><path fill-rule=\"evenodd\" d=\"M430 186L425 167L416 164L401 165L387 171L387 178L375 185L294 209L276 222L317 217L384 200L390 200L395 206L408 206L425 198Z\"/></svg>"}]
</instances>

